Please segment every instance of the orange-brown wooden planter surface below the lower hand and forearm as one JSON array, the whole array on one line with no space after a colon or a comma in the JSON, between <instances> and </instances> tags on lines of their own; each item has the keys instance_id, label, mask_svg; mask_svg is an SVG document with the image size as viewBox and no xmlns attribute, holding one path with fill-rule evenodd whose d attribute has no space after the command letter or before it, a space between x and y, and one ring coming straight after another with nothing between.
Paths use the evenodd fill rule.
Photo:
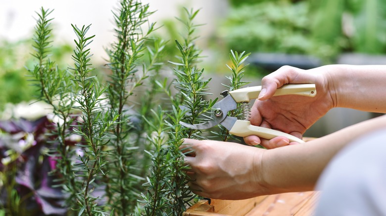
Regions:
<instances>
[{"instance_id":1,"label":"orange-brown wooden planter surface below the lower hand and forearm","mask_svg":"<svg viewBox=\"0 0 386 216\"><path fill-rule=\"evenodd\" d=\"M312 216L319 192L295 192L247 200L200 200L184 216Z\"/></svg>"}]
</instances>

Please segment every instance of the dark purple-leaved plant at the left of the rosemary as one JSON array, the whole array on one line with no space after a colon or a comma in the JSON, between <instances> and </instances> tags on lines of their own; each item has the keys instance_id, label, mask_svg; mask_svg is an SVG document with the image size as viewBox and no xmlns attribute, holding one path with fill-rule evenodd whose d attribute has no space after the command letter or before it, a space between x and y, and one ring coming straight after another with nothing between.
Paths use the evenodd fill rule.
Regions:
<instances>
[{"instance_id":1,"label":"dark purple-leaved plant at the left of the rosemary","mask_svg":"<svg viewBox=\"0 0 386 216\"><path fill-rule=\"evenodd\" d=\"M55 168L56 160L52 156L41 153L43 147L55 148L55 144L47 142L47 137L44 133L47 128L52 125L48 118L42 117L40 119L29 121L26 119L0 121L0 130L6 132L10 136L18 139L16 136L20 133L32 133L35 141L33 145L29 146L21 152L20 156L12 162L11 165L17 167L16 172L16 190L19 197L24 199L22 205L29 215L66 215L66 208L64 208L65 194L62 193L60 187L54 187L54 179L58 176L50 172ZM24 137L21 137L21 141ZM0 158L6 156L5 152L9 148L15 149L20 142L9 142L2 140L0 137ZM4 171L4 167L0 164L0 172ZM1 191L1 202L4 203L6 199L6 191Z\"/></svg>"}]
</instances>

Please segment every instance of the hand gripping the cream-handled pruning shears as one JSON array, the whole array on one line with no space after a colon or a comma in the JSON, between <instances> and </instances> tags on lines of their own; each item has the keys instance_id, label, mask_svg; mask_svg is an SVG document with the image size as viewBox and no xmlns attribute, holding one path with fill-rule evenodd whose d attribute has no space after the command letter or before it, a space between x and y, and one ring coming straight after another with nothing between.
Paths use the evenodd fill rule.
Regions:
<instances>
[{"instance_id":1,"label":"hand gripping the cream-handled pruning shears","mask_svg":"<svg viewBox=\"0 0 386 216\"><path fill-rule=\"evenodd\" d=\"M310 70L302 70L283 66L262 79L262 91L251 109L250 122L253 125L283 131L297 138L327 111L336 106L334 85L328 72L331 66L322 66ZM314 98L285 95L272 97L276 89L285 84L314 83ZM244 138L246 144L261 144L266 148L281 147L290 143L288 138L275 137L265 140L257 136Z\"/></svg>"}]
</instances>

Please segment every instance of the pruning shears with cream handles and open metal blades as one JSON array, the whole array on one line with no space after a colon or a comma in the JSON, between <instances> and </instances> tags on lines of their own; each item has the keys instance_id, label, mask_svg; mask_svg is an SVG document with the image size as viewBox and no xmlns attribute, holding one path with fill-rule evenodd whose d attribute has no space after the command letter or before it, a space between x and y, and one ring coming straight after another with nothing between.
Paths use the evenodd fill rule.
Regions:
<instances>
[{"instance_id":1,"label":"pruning shears with cream handles and open metal blades","mask_svg":"<svg viewBox=\"0 0 386 216\"><path fill-rule=\"evenodd\" d=\"M217 102L212 107L212 112L209 116L209 121L200 123L200 124L188 124L185 122L180 122L181 125L196 129L203 130L214 127L218 124L224 126L228 129L230 134L239 137L246 137L249 135L256 135L264 139L272 139L278 136L287 137L290 142L304 143L301 139L292 136L290 134L251 125L248 117L250 114L250 108L248 103L252 99L256 99L259 96L261 91L261 86L253 86L237 89L234 91L224 91L221 95L224 96L224 99ZM315 84L288 84L278 88L274 96L281 95L300 95L306 97L315 97L316 88ZM237 104L241 103L242 112L244 114L244 120L238 119L237 117L228 116L229 111L237 108Z\"/></svg>"}]
</instances>

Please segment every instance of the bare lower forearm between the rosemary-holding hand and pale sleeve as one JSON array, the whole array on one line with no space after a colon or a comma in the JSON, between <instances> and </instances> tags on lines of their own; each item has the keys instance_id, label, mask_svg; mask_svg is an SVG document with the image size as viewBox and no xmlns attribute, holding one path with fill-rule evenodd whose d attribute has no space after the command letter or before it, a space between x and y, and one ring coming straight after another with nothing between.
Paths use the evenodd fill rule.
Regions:
<instances>
[{"instance_id":1,"label":"bare lower forearm between the rosemary-holding hand and pale sleeve","mask_svg":"<svg viewBox=\"0 0 386 216\"><path fill-rule=\"evenodd\" d=\"M312 190L330 160L358 137L386 127L386 116L347 127L331 135L307 142L266 150L261 175L268 193Z\"/></svg>"}]
</instances>

